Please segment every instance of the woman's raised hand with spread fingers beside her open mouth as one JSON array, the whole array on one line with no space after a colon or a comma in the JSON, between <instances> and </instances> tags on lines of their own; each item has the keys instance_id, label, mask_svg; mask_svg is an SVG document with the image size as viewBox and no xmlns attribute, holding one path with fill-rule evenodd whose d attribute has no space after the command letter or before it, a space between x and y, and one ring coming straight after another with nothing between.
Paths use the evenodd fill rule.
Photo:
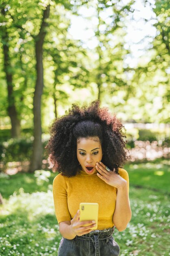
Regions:
<instances>
[{"instance_id":1,"label":"woman's raised hand with spread fingers beside her open mouth","mask_svg":"<svg viewBox=\"0 0 170 256\"><path fill-rule=\"evenodd\" d=\"M120 187L124 187L127 183L126 180L124 180L120 175L115 173L115 171L107 171L105 164L102 162L96 163L96 170L99 172L97 173L98 177L109 184L110 186L114 186L117 189Z\"/></svg>"}]
</instances>

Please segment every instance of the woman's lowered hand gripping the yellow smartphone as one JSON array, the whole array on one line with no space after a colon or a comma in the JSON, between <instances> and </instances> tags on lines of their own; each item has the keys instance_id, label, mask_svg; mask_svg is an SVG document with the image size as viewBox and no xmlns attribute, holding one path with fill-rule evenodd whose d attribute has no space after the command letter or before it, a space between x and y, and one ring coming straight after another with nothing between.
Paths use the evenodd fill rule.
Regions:
<instances>
[{"instance_id":1,"label":"woman's lowered hand gripping the yellow smartphone","mask_svg":"<svg viewBox=\"0 0 170 256\"><path fill-rule=\"evenodd\" d=\"M76 215L71 220L71 230L76 236L82 236L85 234L88 234L90 231L92 231L92 228L96 226L96 223L94 220L86 220L86 221L79 221L80 219L80 210L76 212ZM83 225L89 224L86 227L83 227Z\"/></svg>"}]
</instances>

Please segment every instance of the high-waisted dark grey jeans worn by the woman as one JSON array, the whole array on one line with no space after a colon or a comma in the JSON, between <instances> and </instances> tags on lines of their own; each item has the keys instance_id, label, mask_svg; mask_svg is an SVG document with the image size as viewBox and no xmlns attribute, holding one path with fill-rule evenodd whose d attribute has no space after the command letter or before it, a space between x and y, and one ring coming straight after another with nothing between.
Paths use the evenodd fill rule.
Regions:
<instances>
[{"instance_id":1,"label":"high-waisted dark grey jeans worn by the woman","mask_svg":"<svg viewBox=\"0 0 170 256\"><path fill-rule=\"evenodd\" d=\"M113 238L114 227L92 230L74 239L62 238L58 256L118 256L120 247Z\"/></svg>"}]
</instances>

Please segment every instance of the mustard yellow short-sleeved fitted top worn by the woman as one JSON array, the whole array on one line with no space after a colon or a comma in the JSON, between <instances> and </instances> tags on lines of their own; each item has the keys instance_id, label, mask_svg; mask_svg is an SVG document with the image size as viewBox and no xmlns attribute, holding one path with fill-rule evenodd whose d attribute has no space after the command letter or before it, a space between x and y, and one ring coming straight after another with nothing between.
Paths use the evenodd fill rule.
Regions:
<instances>
[{"instance_id":1,"label":"mustard yellow short-sleeved fitted top worn by the woman","mask_svg":"<svg viewBox=\"0 0 170 256\"><path fill-rule=\"evenodd\" d=\"M129 193L129 175L119 168L122 178L127 181ZM96 174L88 175L84 171L74 177L59 173L53 181L53 198L57 221L72 220L81 202L98 203L98 229L113 227L113 213L116 207L117 189L106 184Z\"/></svg>"}]
</instances>

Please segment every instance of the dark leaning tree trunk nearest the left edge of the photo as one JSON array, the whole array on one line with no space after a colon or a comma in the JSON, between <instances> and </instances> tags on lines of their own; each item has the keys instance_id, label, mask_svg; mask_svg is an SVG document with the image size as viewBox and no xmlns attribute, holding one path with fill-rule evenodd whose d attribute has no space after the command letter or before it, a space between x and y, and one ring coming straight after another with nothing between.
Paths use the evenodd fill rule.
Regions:
<instances>
[{"instance_id":1,"label":"dark leaning tree trunk nearest the left edge of the photo","mask_svg":"<svg viewBox=\"0 0 170 256\"><path fill-rule=\"evenodd\" d=\"M1 9L1 13L3 16L6 15L4 9ZM20 119L17 115L17 110L15 107L15 97L13 93L13 76L12 76L12 67L11 60L9 57L9 35L7 31L7 27L2 27L2 44L4 50L4 72L6 74L7 79L7 90L8 90L8 113L11 119L11 136L12 137L20 137Z\"/></svg>"}]
</instances>

